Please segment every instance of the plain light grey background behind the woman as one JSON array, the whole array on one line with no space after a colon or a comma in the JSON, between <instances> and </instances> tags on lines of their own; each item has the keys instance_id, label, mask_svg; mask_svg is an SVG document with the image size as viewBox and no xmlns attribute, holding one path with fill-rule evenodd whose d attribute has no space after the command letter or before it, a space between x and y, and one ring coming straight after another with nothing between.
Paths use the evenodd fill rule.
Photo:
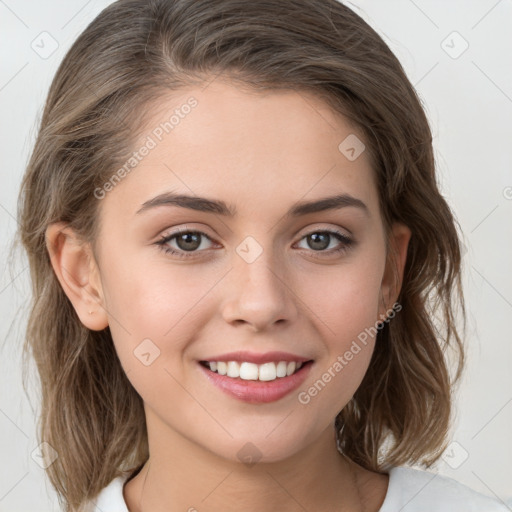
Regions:
<instances>
[{"instance_id":1,"label":"plain light grey background behind the woman","mask_svg":"<svg viewBox=\"0 0 512 512\"><path fill-rule=\"evenodd\" d=\"M31 456L37 380L30 388L35 411L21 384L29 271L20 257L10 270L7 257L50 81L77 35L109 3L0 0L0 511L59 510ZM469 363L454 444L435 470L512 510L512 1L347 4L384 37L416 86L431 121L441 187L466 237Z\"/></svg>"}]
</instances>

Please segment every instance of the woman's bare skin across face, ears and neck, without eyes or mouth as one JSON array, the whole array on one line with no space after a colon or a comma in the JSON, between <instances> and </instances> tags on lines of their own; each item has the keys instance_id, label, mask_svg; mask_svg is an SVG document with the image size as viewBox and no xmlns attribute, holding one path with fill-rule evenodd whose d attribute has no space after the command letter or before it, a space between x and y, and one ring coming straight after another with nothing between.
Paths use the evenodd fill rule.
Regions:
<instances>
[{"instance_id":1,"label":"woman's bare skin across face, ears and neck, without eyes or mouth","mask_svg":"<svg viewBox=\"0 0 512 512\"><path fill-rule=\"evenodd\" d=\"M309 93L249 92L218 77L152 105L141 143L191 96L197 106L101 199L96 254L65 224L47 230L53 268L81 322L110 327L144 401L150 459L124 487L128 508L377 512L388 475L349 463L336 450L333 428L375 339L308 404L297 395L389 312L411 232L392 226L392 259L368 152L351 161L338 149L347 136L363 136ZM222 200L237 213L175 205L137 213L170 191ZM334 194L366 209L285 216L298 202ZM307 236L333 229L353 243L331 235L321 246ZM166 243L185 258L158 244L187 230L206 236L194 249L190 239ZM237 252L246 237L256 242L251 250L262 251L250 263ZM149 365L134 354L147 339L160 351ZM249 404L213 386L199 366L236 350L280 350L314 363L296 392ZM246 445L257 448L254 465L237 455Z\"/></svg>"}]
</instances>

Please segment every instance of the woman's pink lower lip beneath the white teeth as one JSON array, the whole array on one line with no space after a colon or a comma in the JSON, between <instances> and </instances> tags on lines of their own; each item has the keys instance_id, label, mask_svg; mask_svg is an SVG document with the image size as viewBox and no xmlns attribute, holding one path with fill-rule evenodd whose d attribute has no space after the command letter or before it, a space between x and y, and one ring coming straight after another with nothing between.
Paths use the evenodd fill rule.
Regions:
<instances>
[{"instance_id":1,"label":"woman's pink lower lip beneath the white teeth","mask_svg":"<svg viewBox=\"0 0 512 512\"><path fill-rule=\"evenodd\" d=\"M297 389L308 376L311 365L310 361L293 375L263 382L219 375L199 363L201 370L215 386L238 400L253 404L275 402Z\"/></svg>"}]
</instances>

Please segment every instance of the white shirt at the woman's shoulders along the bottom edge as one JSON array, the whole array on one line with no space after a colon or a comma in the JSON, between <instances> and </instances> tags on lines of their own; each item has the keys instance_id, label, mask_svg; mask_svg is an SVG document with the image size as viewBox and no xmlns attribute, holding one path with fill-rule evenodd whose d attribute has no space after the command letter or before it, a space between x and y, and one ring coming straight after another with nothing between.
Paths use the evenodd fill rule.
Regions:
<instances>
[{"instance_id":1,"label":"white shirt at the woman's shoulders along the bottom edge","mask_svg":"<svg viewBox=\"0 0 512 512\"><path fill-rule=\"evenodd\" d=\"M129 512L123 498L123 485L129 474L112 480L96 500L92 510ZM97 508L94 508L94 505ZM394 467L379 512L510 512L500 501L437 473Z\"/></svg>"}]
</instances>

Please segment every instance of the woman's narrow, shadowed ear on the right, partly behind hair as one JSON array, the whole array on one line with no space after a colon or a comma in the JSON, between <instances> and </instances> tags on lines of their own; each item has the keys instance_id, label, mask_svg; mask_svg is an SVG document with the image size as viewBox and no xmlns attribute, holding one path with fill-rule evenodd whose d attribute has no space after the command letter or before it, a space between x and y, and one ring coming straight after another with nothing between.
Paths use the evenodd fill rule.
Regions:
<instances>
[{"instance_id":1,"label":"woman's narrow, shadowed ear on the right, partly behind hair","mask_svg":"<svg viewBox=\"0 0 512 512\"><path fill-rule=\"evenodd\" d=\"M400 295L410 238L411 230L405 224L395 222L392 225L389 234L389 250L386 257L386 268L380 288L380 320L387 317L387 311L393 306Z\"/></svg>"}]
</instances>

